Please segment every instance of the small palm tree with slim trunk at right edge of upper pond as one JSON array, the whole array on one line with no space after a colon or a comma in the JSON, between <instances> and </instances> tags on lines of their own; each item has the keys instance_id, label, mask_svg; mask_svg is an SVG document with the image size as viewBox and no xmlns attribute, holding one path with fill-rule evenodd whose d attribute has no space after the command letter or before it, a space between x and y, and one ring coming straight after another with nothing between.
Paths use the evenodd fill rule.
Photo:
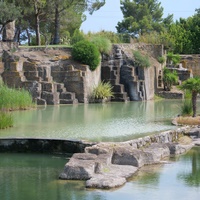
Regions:
<instances>
[{"instance_id":1,"label":"small palm tree with slim trunk at right edge of upper pond","mask_svg":"<svg viewBox=\"0 0 200 200\"><path fill-rule=\"evenodd\" d=\"M196 117L197 112L197 94L200 93L200 77L194 77L183 81L180 86L182 90L189 90L192 94L192 111L193 117Z\"/></svg>"}]
</instances>

